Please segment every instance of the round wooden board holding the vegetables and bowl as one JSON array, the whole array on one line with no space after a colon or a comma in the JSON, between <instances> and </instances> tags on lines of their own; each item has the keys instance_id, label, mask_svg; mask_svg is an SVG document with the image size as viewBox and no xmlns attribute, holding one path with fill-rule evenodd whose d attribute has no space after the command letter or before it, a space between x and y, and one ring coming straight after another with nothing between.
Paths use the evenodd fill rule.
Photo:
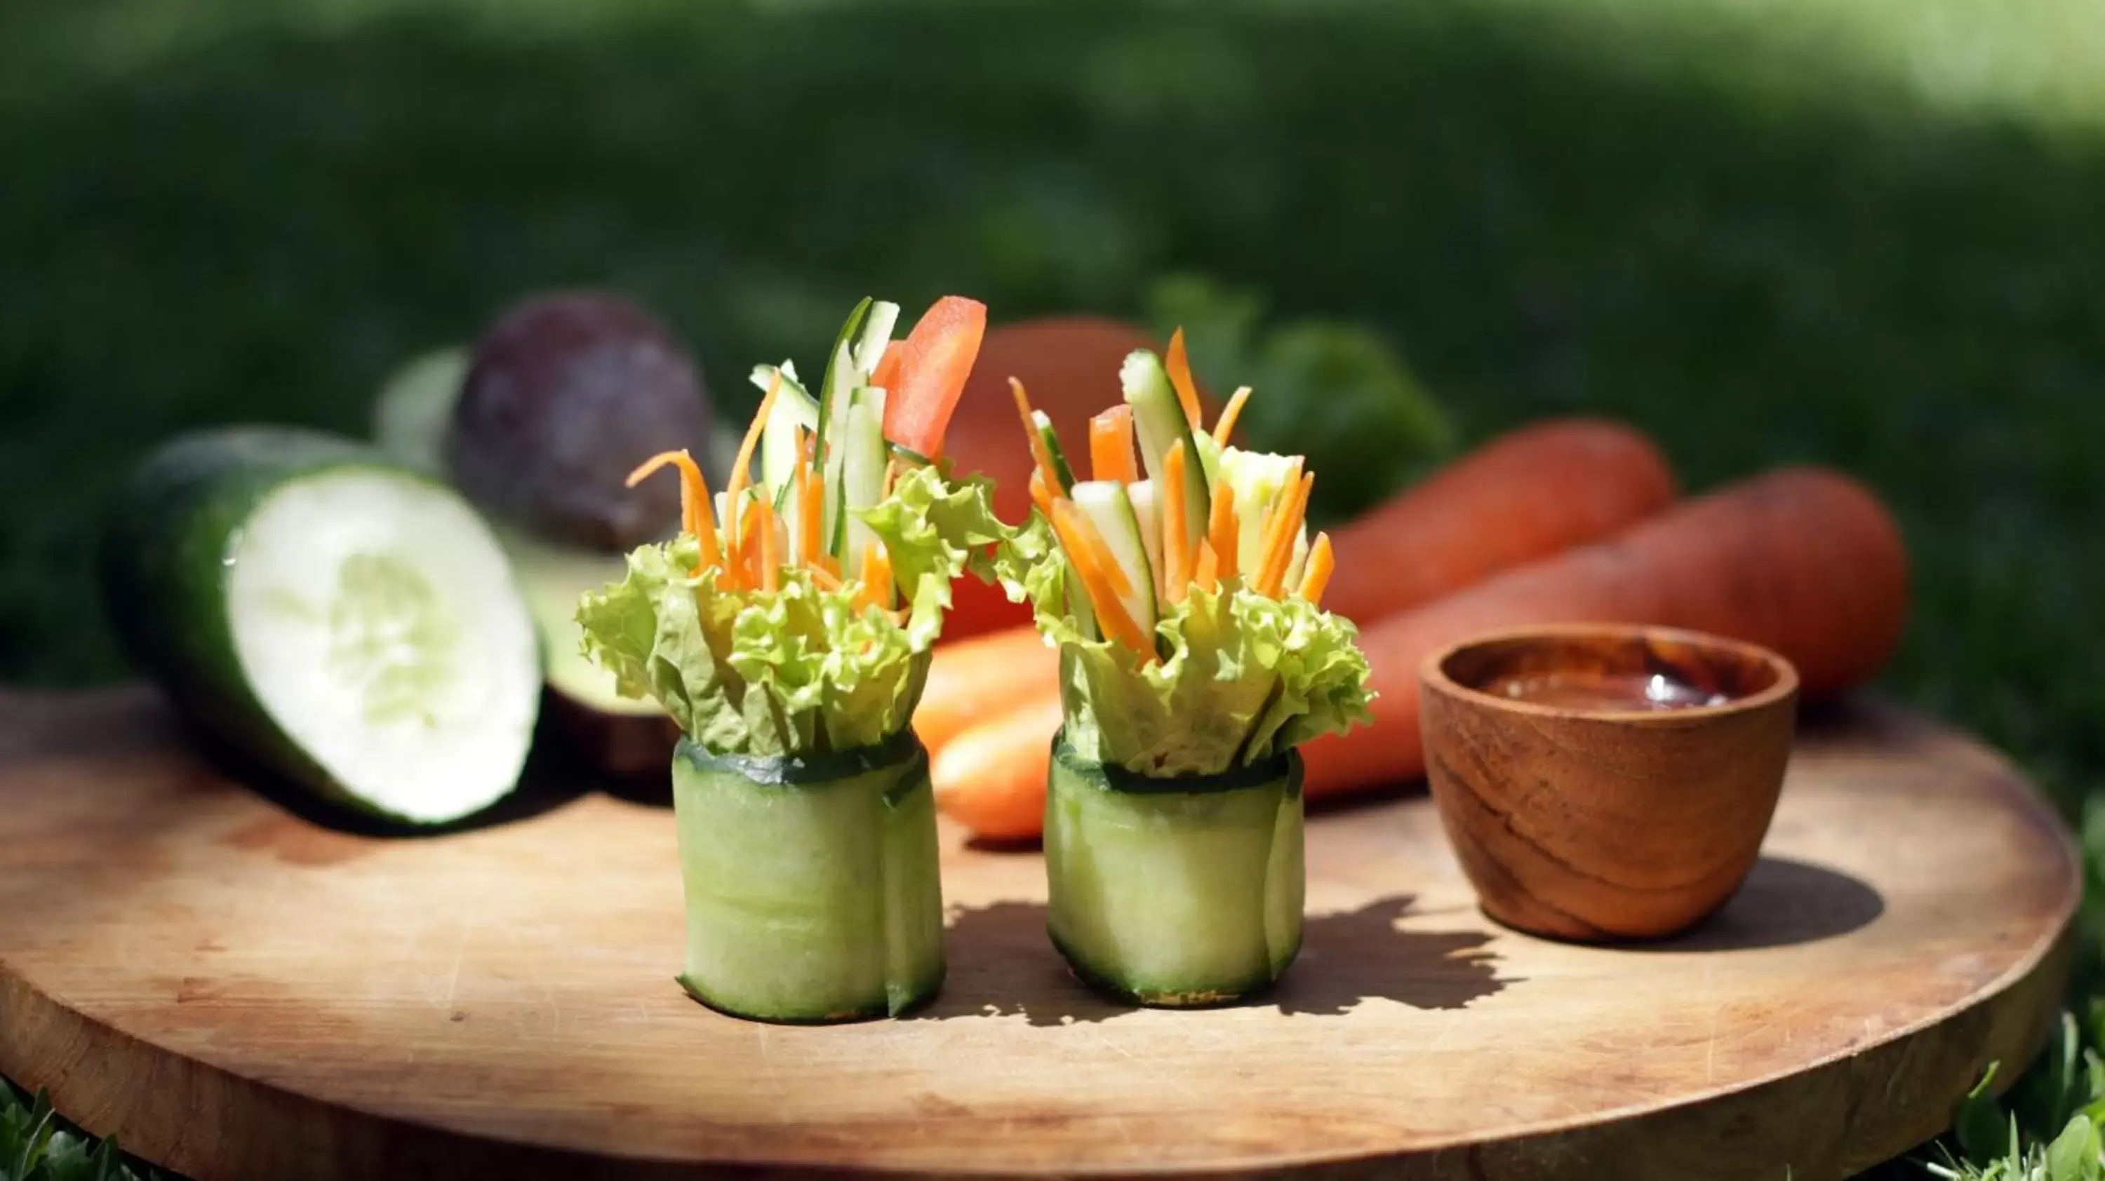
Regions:
<instances>
[{"instance_id":1,"label":"round wooden board holding the vegetables and bowl","mask_svg":"<svg viewBox=\"0 0 2105 1181\"><path fill-rule=\"evenodd\" d=\"M1764 861L1690 937L1505 933L1404 796L1309 823L1301 960L1208 1013L1084 992L1040 859L945 832L930 1010L733 1021L671 981L663 806L543 785L469 832L345 832L143 690L0 695L0 1074L200 1181L1817 1181L2036 1053L2080 893L1998 756L1876 705L1806 726Z\"/></svg>"}]
</instances>

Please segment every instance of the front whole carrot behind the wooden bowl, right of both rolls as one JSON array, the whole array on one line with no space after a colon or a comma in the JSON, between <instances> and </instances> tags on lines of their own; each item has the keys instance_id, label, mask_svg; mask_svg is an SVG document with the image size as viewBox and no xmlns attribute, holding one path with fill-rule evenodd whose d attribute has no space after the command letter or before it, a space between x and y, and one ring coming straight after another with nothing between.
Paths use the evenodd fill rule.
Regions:
<instances>
[{"instance_id":1,"label":"front whole carrot behind the wooden bowl, right of both rolls","mask_svg":"<svg viewBox=\"0 0 2105 1181\"><path fill-rule=\"evenodd\" d=\"M1375 724L1309 743L1307 792L1423 773L1419 663L1476 632L1558 621L1716 632L1783 653L1819 697L1878 672L1905 617L1907 554L1878 499L1833 472L1772 472L1362 632Z\"/></svg>"}]
</instances>

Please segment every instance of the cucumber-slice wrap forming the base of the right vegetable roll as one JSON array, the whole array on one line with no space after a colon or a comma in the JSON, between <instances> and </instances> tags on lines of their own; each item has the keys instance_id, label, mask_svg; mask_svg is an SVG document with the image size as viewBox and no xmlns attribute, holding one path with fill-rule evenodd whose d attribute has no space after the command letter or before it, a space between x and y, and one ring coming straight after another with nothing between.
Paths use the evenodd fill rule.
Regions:
<instances>
[{"instance_id":1,"label":"cucumber-slice wrap forming the base of the right vegetable roll","mask_svg":"<svg viewBox=\"0 0 2105 1181\"><path fill-rule=\"evenodd\" d=\"M1301 754L1149 779L1052 739L1048 930L1090 985L1149 1006L1229 1004L1301 949Z\"/></svg>"}]
</instances>

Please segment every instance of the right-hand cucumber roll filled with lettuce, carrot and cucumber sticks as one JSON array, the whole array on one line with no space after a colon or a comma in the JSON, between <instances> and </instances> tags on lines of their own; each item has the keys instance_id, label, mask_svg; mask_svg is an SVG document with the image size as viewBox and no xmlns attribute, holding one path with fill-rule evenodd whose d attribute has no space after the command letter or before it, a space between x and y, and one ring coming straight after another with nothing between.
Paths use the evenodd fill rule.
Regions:
<instances>
[{"instance_id":1,"label":"right-hand cucumber roll filled with lettuce, carrot and cucumber sticks","mask_svg":"<svg viewBox=\"0 0 2105 1181\"><path fill-rule=\"evenodd\" d=\"M1250 392L1206 432L1181 333L1120 385L1090 421L1092 480L1013 385L1038 512L1002 579L1061 650L1050 935L1114 994L1221 1004L1299 949L1295 747L1368 718L1366 659L1318 606L1335 558L1307 539L1316 476L1229 446Z\"/></svg>"}]
</instances>

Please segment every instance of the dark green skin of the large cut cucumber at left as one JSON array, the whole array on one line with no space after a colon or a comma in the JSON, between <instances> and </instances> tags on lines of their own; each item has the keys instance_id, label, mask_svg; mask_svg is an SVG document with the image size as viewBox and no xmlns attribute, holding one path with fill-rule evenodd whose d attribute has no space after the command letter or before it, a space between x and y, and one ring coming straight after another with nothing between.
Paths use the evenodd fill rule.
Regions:
<instances>
[{"instance_id":1,"label":"dark green skin of the large cut cucumber at left","mask_svg":"<svg viewBox=\"0 0 2105 1181\"><path fill-rule=\"evenodd\" d=\"M453 495L381 453L320 432L223 427L152 453L118 488L101 537L103 610L124 653L204 737L318 796L402 823L345 792L278 728L234 650L227 558L248 516L288 480L383 469Z\"/></svg>"}]
</instances>

